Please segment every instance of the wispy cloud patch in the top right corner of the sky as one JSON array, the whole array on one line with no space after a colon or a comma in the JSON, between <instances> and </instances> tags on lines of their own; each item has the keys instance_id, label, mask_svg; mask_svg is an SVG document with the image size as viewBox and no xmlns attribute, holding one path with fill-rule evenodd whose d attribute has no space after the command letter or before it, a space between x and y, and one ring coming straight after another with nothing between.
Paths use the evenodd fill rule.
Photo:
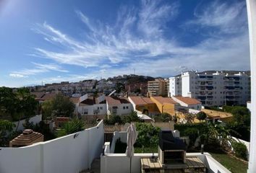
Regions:
<instances>
[{"instance_id":1,"label":"wispy cloud patch in the top right corner of the sky","mask_svg":"<svg viewBox=\"0 0 256 173\"><path fill-rule=\"evenodd\" d=\"M199 4L194 12L195 19L186 24L213 27L225 35L247 30L245 1L229 3L230 1L212 1L207 6Z\"/></svg>"}]
</instances>

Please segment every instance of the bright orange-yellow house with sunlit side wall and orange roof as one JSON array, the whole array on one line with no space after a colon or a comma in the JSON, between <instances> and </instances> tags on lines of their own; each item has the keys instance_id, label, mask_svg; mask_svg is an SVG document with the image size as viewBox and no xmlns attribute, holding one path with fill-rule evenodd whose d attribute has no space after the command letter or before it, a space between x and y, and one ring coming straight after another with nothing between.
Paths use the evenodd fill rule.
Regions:
<instances>
[{"instance_id":1,"label":"bright orange-yellow house with sunlit side wall and orange roof","mask_svg":"<svg viewBox=\"0 0 256 173\"><path fill-rule=\"evenodd\" d=\"M176 107L179 106L178 102L175 102L174 99L170 97L150 97L150 99L155 102L156 106L158 107L159 112L163 113L166 112L170 115L175 115Z\"/></svg>"}]
</instances>

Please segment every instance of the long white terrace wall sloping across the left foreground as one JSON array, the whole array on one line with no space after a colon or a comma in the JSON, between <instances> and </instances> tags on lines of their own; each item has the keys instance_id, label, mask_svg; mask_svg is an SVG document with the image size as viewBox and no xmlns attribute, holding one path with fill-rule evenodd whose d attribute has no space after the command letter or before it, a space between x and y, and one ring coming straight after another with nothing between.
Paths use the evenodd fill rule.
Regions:
<instances>
[{"instance_id":1,"label":"long white terrace wall sloping across the left foreground","mask_svg":"<svg viewBox=\"0 0 256 173\"><path fill-rule=\"evenodd\" d=\"M93 128L22 148L0 148L1 173L78 173L101 155L103 120Z\"/></svg>"}]
</instances>

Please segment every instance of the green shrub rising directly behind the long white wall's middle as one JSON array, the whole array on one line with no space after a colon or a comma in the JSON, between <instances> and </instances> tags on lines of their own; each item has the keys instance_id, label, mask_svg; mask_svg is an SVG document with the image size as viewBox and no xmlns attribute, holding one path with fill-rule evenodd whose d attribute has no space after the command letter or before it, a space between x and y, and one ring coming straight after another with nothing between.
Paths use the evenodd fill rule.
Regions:
<instances>
[{"instance_id":1,"label":"green shrub rising directly behind the long white wall's middle","mask_svg":"<svg viewBox=\"0 0 256 173\"><path fill-rule=\"evenodd\" d=\"M82 120L73 119L71 121L68 121L67 123L64 123L63 127L60 130L56 131L56 136L67 136L72 133L79 132L81 130L84 130L85 124Z\"/></svg>"}]
</instances>

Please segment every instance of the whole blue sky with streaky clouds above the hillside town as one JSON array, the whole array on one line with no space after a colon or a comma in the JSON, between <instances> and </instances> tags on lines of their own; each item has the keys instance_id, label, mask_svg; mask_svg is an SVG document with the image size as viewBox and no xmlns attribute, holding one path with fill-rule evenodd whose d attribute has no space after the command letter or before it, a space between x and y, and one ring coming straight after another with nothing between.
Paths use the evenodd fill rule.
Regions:
<instances>
[{"instance_id":1,"label":"whole blue sky with streaky clouds above the hillside town","mask_svg":"<svg viewBox=\"0 0 256 173\"><path fill-rule=\"evenodd\" d=\"M0 86L249 70L245 1L0 1Z\"/></svg>"}]
</instances>

